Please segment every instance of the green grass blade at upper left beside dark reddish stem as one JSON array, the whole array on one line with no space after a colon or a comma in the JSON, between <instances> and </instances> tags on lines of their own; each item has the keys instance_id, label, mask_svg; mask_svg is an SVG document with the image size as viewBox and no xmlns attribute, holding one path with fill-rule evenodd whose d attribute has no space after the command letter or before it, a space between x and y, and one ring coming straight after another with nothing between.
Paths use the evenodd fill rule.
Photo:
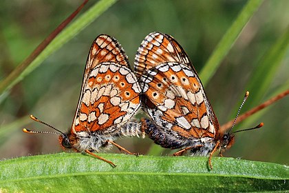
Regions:
<instances>
[{"instance_id":1,"label":"green grass blade at upper left beside dark reddish stem","mask_svg":"<svg viewBox=\"0 0 289 193\"><path fill-rule=\"evenodd\" d=\"M113 5L116 0L100 0L92 6L89 10L83 13L76 21L72 22L70 26L65 28L55 39L47 45L47 47L39 54L38 57L30 65L21 71L21 74L15 74L14 81L2 81L0 83L0 94L6 90L12 88L15 84L19 83L24 77L26 77L30 72L35 70L50 54L56 52L62 45L67 41L72 39L76 34L81 32L89 23L92 23L97 17L100 16L105 10L107 10L111 5Z\"/></svg>"}]
</instances>

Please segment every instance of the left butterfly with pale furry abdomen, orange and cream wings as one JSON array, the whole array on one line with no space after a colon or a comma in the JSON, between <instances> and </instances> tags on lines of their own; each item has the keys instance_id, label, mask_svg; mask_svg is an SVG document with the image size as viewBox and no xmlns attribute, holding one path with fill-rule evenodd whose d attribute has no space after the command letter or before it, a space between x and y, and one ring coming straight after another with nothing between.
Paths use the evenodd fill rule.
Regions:
<instances>
[{"instance_id":1,"label":"left butterfly with pale furry abdomen, orange and cream wings","mask_svg":"<svg viewBox=\"0 0 289 193\"><path fill-rule=\"evenodd\" d=\"M65 149L86 152L113 166L114 163L94 154L112 145L132 154L114 142L122 136L138 136L140 123L132 117L140 108L140 85L129 67L125 51L118 41L107 34L100 34L89 50L81 94L78 100L72 127L67 133L44 123L57 132L27 133L59 134L59 142Z\"/></svg>"}]
</instances>

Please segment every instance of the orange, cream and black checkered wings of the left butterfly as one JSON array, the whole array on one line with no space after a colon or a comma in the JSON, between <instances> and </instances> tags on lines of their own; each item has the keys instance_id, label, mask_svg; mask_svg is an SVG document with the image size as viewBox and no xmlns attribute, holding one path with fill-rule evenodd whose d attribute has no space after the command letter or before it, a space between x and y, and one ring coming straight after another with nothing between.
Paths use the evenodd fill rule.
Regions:
<instances>
[{"instance_id":1,"label":"orange, cream and black checkered wings of the left butterfly","mask_svg":"<svg viewBox=\"0 0 289 193\"><path fill-rule=\"evenodd\" d=\"M139 93L124 50L101 34L89 51L72 132L114 132L140 107Z\"/></svg>"}]
</instances>

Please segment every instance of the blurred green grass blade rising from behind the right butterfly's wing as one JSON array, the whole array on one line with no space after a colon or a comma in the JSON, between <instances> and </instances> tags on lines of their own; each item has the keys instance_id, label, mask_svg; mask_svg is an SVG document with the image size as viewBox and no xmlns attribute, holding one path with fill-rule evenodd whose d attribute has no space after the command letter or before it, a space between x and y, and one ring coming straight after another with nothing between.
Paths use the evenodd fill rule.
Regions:
<instances>
[{"instance_id":1,"label":"blurred green grass blade rising from behind the right butterfly's wing","mask_svg":"<svg viewBox=\"0 0 289 193\"><path fill-rule=\"evenodd\" d=\"M206 85L211 77L213 77L213 74L215 74L215 71L220 66L222 60L234 45L237 37L239 37L239 34L241 34L243 28L246 26L246 23L248 23L262 2L263 0L248 1L232 23L232 26L228 28L226 34L224 34L221 41L217 44L213 54L200 72L203 85Z\"/></svg>"}]
</instances>

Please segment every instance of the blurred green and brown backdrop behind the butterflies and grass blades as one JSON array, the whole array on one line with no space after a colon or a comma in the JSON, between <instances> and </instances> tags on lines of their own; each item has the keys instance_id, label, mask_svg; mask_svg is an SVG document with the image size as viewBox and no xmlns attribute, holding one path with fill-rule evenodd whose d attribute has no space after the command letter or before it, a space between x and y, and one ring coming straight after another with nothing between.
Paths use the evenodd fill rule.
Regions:
<instances>
[{"instance_id":1,"label":"blurred green and brown backdrop behind the butterflies and grass blades","mask_svg":"<svg viewBox=\"0 0 289 193\"><path fill-rule=\"evenodd\" d=\"M57 136L30 135L21 129L47 130L44 125L32 123L29 114L34 114L59 130L70 128L88 50L98 34L116 37L127 52L131 65L138 46L147 34L153 31L171 34L189 54L197 72L200 72L246 2L118 1L10 92L1 96L0 134L3 131L5 134L0 138L0 159L61 151ZM1 1L0 79L4 79L21 63L80 3L76 0ZM90 1L83 12L94 3ZM264 1L205 86L220 124L233 119L244 90L250 87L250 80L261 65L264 54L288 30L288 8L289 1L286 0ZM250 106L245 104L244 110L265 101L279 88L289 88L288 63L287 50L263 99L257 103L249 102L253 101L254 93L258 93L256 86L253 87L256 89L249 90ZM268 73L264 72L264 79ZM259 83L262 83L262 79L259 79ZM288 97L260 114L244 121L242 128L257 125L261 121L265 123L264 127L237 134L235 145L224 156L288 164ZM19 124L15 125L19 122L20 127ZM118 143L140 154L147 154L153 146L150 139L120 139ZM171 152L164 150L162 154Z\"/></svg>"}]
</instances>

